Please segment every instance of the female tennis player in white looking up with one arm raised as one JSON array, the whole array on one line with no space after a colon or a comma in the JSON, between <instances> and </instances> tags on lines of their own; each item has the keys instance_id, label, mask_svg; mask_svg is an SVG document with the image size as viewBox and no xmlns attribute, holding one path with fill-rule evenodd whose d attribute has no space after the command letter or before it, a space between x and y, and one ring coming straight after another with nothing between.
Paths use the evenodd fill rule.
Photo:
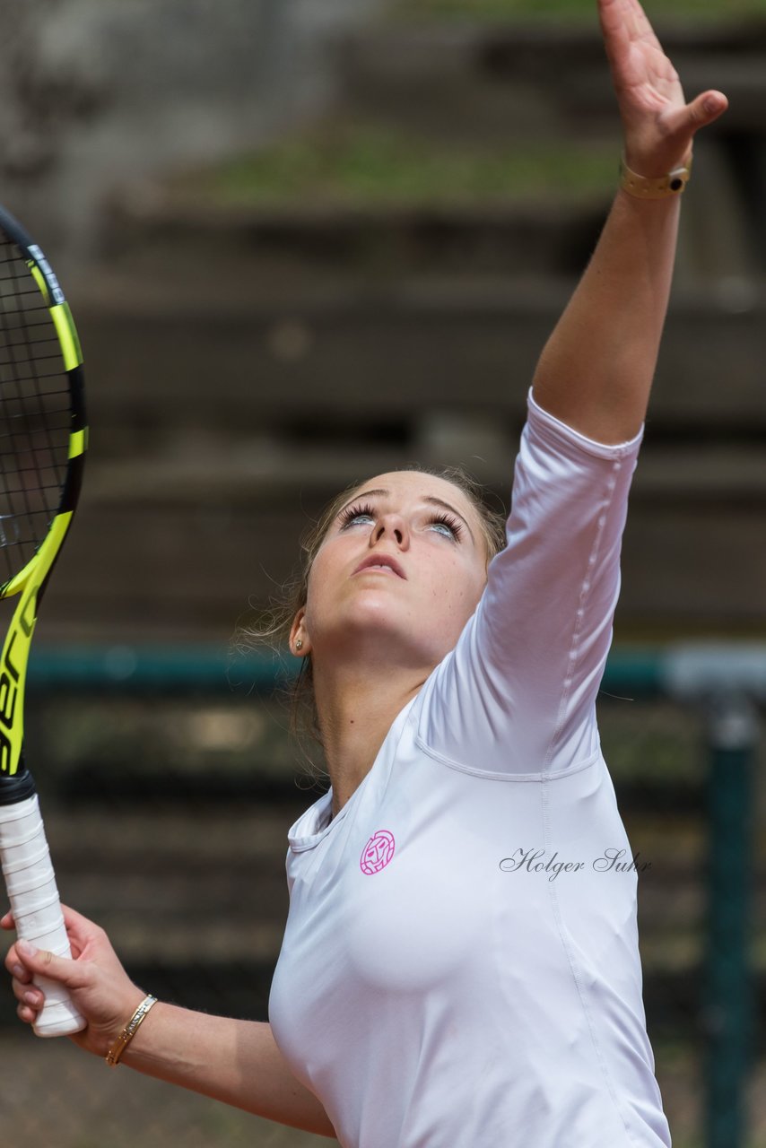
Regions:
<instances>
[{"instance_id":1,"label":"female tennis player in white looking up with one arm raised","mask_svg":"<svg viewBox=\"0 0 766 1148\"><path fill-rule=\"evenodd\" d=\"M289 643L331 788L288 832L270 1022L155 1004L71 910L73 960L7 957L23 1021L42 972L83 1048L343 1148L671 1143L595 700L693 139L727 101L686 102L637 0L598 8L625 162L528 394L506 544L467 487L396 471L309 554Z\"/></svg>"}]
</instances>

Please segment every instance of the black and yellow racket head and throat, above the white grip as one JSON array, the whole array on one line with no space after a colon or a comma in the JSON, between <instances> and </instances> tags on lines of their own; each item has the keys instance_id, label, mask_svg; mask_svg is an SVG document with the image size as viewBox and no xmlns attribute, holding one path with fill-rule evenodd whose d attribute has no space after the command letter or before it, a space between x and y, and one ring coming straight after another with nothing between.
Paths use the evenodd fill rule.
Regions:
<instances>
[{"instance_id":1,"label":"black and yellow racket head and throat, above the white grip","mask_svg":"<svg viewBox=\"0 0 766 1148\"><path fill-rule=\"evenodd\" d=\"M0 805L29 788L29 650L86 449L83 354L69 304L40 248L0 208L0 598L21 596L0 657Z\"/></svg>"}]
</instances>

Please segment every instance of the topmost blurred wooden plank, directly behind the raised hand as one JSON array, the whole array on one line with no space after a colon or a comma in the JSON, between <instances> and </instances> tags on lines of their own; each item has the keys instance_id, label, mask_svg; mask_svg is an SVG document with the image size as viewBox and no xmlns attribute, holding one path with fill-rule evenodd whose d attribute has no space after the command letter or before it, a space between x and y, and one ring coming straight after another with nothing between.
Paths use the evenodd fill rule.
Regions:
<instances>
[{"instance_id":1,"label":"topmost blurred wooden plank, directly behind the raised hand","mask_svg":"<svg viewBox=\"0 0 766 1148\"><path fill-rule=\"evenodd\" d=\"M660 21L657 29L688 91L717 87L732 98L728 126L720 130L761 134L763 22ZM338 55L343 95L357 114L472 140L535 138L567 127L580 135L618 132L594 25L390 23L348 34ZM510 115L513 107L524 107L525 115Z\"/></svg>"}]
</instances>

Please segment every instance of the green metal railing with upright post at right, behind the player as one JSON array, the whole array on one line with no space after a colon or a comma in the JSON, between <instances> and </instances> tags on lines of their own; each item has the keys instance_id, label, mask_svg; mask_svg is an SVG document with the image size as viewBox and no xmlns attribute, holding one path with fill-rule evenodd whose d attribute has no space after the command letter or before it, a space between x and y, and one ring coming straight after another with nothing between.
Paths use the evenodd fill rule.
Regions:
<instances>
[{"instance_id":1,"label":"green metal railing with upright post at right, behind the player","mask_svg":"<svg viewBox=\"0 0 766 1148\"><path fill-rule=\"evenodd\" d=\"M33 697L110 695L268 697L299 659L231 656L225 646L45 646L32 650ZM698 1030L705 1044L705 1143L744 1148L755 1062L757 999L751 959L755 765L766 701L766 645L686 643L617 649L602 692L673 699L702 719L705 776L706 917Z\"/></svg>"}]
</instances>

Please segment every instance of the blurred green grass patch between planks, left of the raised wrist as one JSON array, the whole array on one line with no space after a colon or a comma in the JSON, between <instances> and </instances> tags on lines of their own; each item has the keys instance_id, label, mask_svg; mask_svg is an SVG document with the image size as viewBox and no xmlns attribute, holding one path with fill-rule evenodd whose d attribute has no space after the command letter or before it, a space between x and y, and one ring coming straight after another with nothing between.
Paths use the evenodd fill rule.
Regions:
<instances>
[{"instance_id":1,"label":"blurred green grass patch between planks, left of the raised wrist","mask_svg":"<svg viewBox=\"0 0 766 1148\"><path fill-rule=\"evenodd\" d=\"M473 148L395 127L331 123L187 178L186 189L229 207L560 200L608 194L614 156L611 144Z\"/></svg>"}]
</instances>

